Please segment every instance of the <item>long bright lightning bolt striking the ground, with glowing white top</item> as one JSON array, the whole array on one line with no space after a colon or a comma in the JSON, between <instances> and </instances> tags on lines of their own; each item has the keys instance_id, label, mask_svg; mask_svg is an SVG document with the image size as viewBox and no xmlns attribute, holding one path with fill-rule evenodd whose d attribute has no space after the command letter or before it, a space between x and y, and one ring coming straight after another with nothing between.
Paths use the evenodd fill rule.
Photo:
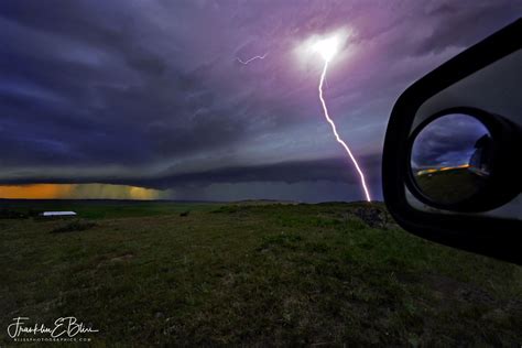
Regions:
<instances>
[{"instance_id":1,"label":"long bright lightning bolt striking the ground, with glowing white top","mask_svg":"<svg viewBox=\"0 0 522 348\"><path fill-rule=\"evenodd\" d=\"M348 153L348 156L351 159L351 162L354 162L354 165L356 166L356 170L359 173L359 176L360 176L360 180L361 180L361 184L362 184L362 188L365 191L366 199L368 202L371 202L370 193L368 192L368 187L366 185L365 174L362 173L359 164L357 163L356 157L351 153L350 148L346 144L346 142L342 139L340 139L339 133L337 133L337 128L336 128L334 121L331 120L331 118L328 113L328 108L326 106L326 101L325 101L325 98L324 98L324 95L323 95L323 85L325 83L326 72L328 69L328 62L337 53L337 41L335 40L335 37L329 39L329 40L320 41L315 46L315 50L322 54L322 56L325 61L325 65L323 67L323 73L320 74L318 90L319 90L319 99L320 99L320 104L323 106L323 111L325 113L326 121L331 126L331 131L334 132L334 135L335 135L337 142L342 145L346 153Z\"/></svg>"}]
</instances>

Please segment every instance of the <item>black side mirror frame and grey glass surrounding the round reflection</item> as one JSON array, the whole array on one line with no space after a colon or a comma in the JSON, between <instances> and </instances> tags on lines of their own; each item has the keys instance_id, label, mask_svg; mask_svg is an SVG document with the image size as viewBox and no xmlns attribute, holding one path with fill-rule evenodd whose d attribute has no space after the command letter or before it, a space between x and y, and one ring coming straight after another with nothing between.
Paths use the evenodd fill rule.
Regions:
<instances>
[{"instance_id":1,"label":"black side mirror frame and grey glass surrounding the round reflection","mask_svg":"<svg viewBox=\"0 0 522 348\"><path fill-rule=\"evenodd\" d=\"M384 140L385 204L406 230L450 247L522 264L522 19L427 74L398 99ZM466 204L424 199L412 180L412 142L432 119L471 110L491 127L502 163ZM463 111L464 110L464 111ZM465 112L469 113L469 112ZM499 150L500 149L500 150Z\"/></svg>"}]
</instances>

